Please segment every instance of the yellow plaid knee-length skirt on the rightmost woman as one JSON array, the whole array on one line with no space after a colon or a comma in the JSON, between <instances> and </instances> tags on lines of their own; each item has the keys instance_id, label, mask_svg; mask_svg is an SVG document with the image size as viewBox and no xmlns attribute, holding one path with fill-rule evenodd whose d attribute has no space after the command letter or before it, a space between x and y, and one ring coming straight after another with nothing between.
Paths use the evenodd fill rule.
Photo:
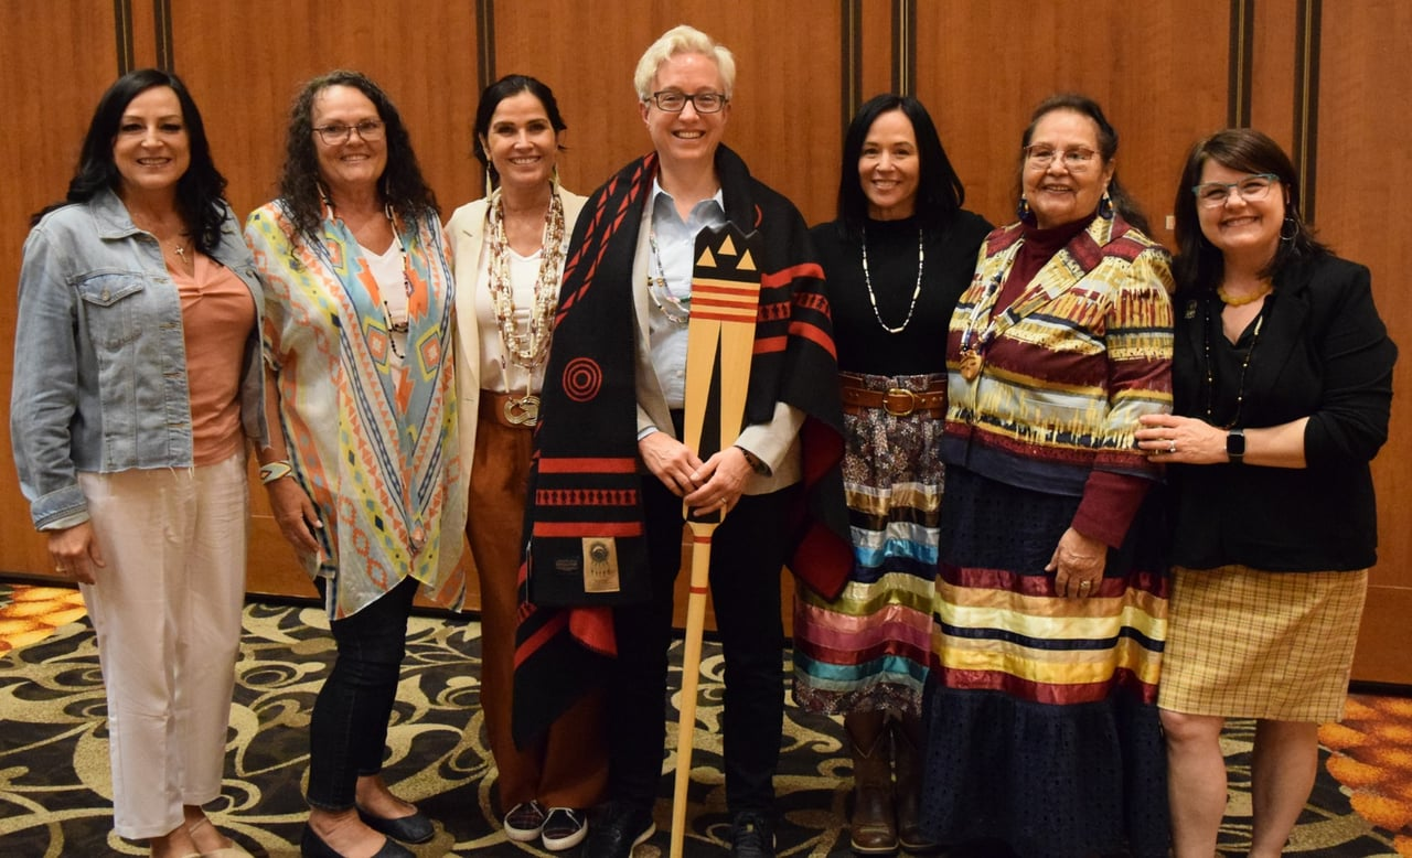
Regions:
<instances>
[{"instance_id":1,"label":"yellow plaid knee-length skirt on the rightmost woman","mask_svg":"<svg viewBox=\"0 0 1412 858\"><path fill-rule=\"evenodd\" d=\"M1275 721L1337 721L1368 570L1172 570L1158 706Z\"/></svg>"}]
</instances>

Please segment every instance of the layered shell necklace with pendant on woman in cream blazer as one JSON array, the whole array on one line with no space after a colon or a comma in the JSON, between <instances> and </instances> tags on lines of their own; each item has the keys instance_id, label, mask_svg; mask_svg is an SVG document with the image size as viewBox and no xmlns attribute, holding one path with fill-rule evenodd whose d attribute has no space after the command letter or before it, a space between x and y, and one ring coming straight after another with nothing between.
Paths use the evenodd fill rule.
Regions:
<instances>
[{"instance_id":1,"label":"layered shell necklace with pendant on woman in cream blazer","mask_svg":"<svg viewBox=\"0 0 1412 858\"><path fill-rule=\"evenodd\" d=\"M504 198L497 189L490 198L490 303L496 310L500 340L505 356L532 377L549 354L554 333L554 312L559 306L559 279L563 271L563 203L558 193L549 193L549 209L544 216L544 236L539 243L539 274L534 281L530 318L521 323L515 318L514 286L510 282L510 241L505 238ZM505 401L505 418L513 423L534 426L539 419L539 397L525 381L522 397Z\"/></svg>"}]
</instances>

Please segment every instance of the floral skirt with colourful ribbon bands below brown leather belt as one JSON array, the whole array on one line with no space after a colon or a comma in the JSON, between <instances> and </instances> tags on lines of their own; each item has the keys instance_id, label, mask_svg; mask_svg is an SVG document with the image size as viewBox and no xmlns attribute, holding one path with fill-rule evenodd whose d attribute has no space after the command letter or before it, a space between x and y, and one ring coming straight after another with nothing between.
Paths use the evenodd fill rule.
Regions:
<instances>
[{"instance_id":1,"label":"floral skirt with colourful ribbon bands below brown leather belt","mask_svg":"<svg viewBox=\"0 0 1412 858\"><path fill-rule=\"evenodd\" d=\"M925 391L940 375L863 375L870 389ZM808 710L921 711L931 658L942 421L881 408L843 418L853 574L826 601L801 587L794 610L795 701Z\"/></svg>"}]
</instances>

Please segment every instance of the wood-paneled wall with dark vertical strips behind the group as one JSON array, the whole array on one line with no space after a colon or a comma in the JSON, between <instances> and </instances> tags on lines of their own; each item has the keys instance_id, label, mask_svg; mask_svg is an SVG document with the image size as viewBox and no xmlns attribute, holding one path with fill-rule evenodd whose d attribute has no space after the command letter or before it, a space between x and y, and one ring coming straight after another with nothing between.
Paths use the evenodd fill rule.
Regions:
<instances>
[{"instance_id":1,"label":"wood-paneled wall with dark vertical strips behind the group","mask_svg":"<svg viewBox=\"0 0 1412 858\"><path fill-rule=\"evenodd\" d=\"M918 95L967 186L967 207L1012 219L1019 134L1045 95L1097 97L1121 134L1120 175L1171 241L1166 216L1186 148L1228 123L1254 124L1305 165L1312 219L1372 268L1394 337L1412 347L1406 243L1380 237L1412 216L1412 167L1396 152L1412 107L1388 82L1412 78L1401 0L8 0L0 3L0 104L11 131L0 196L0 337L11 342L14 282L28 214L58 199L97 95L128 68L164 65L205 113L229 196L247 212L273 195L288 103L322 71L367 71L412 131L443 213L479 196L470 124L480 89L508 73L554 86L569 123L566 186L587 192L647 150L631 89L641 51L688 21L737 55L729 145L796 202L832 217L842 131L861 100ZM1405 40L1404 40L1405 41ZM1380 229L1381 227L1381 229ZM13 356L0 349L0 374ZM1396 378L1394 433L1377 461L1384 533L1356 676L1412 683L1399 629L1412 614L1412 433ZM8 415L8 402L0 404ZM8 446L8 421L0 445ZM308 594L254 491L251 587ZM14 467L0 456L0 570L42 574Z\"/></svg>"}]
</instances>

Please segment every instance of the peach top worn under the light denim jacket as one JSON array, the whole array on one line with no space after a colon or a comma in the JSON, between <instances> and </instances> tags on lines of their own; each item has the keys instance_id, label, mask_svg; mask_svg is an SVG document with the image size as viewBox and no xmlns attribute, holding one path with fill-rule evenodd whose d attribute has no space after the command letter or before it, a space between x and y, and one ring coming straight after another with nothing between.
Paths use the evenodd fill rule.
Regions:
<instances>
[{"instance_id":1,"label":"peach top worn under the light denim jacket","mask_svg":"<svg viewBox=\"0 0 1412 858\"><path fill-rule=\"evenodd\" d=\"M205 254L193 255L192 275L171 275L181 294L192 457L199 467L225 461L244 446L240 374L256 303L233 271Z\"/></svg>"}]
</instances>

